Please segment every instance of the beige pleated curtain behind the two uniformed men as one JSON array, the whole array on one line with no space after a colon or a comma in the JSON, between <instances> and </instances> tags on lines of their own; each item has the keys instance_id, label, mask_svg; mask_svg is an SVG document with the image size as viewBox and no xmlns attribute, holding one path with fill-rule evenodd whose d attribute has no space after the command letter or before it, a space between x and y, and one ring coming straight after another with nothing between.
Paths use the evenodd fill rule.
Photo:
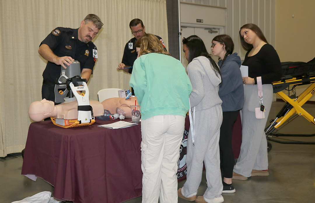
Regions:
<instances>
[{"instance_id":1,"label":"beige pleated curtain behind the two uniformed men","mask_svg":"<svg viewBox=\"0 0 315 203\"><path fill-rule=\"evenodd\" d=\"M79 27L89 13L104 23L93 40L98 59L88 82L90 100L97 100L100 89L129 89L130 75L116 68L133 37L130 20L140 18L146 32L162 37L168 46L166 0L0 1L0 157L25 147L28 106L41 100L47 62L37 52L40 42L55 27Z\"/></svg>"}]
</instances>

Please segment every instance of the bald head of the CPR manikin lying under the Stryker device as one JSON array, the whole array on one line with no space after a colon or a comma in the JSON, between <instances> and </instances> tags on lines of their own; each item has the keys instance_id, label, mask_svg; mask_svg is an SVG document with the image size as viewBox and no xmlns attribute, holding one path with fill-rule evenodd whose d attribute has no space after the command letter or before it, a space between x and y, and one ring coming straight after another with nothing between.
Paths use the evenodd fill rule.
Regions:
<instances>
[{"instance_id":1,"label":"bald head of the CPR manikin lying under the Stryker device","mask_svg":"<svg viewBox=\"0 0 315 203\"><path fill-rule=\"evenodd\" d=\"M57 109L53 101L43 99L31 103L28 108L28 115L33 121L42 121L45 118L57 115Z\"/></svg>"}]
</instances>

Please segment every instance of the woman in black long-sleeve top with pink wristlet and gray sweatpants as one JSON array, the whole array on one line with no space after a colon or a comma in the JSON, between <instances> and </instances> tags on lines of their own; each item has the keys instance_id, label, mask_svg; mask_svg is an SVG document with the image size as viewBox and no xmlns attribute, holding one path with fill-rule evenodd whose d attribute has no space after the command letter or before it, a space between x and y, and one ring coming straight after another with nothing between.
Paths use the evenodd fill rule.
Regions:
<instances>
[{"instance_id":1,"label":"woman in black long-sleeve top with pink wristlet and gray sweatpants","mask_svg":"<svg viewBox=\"0 0 315 203\"><path fill-rule=\"evenodd\" d=\"M247 180L250 176L267 176L268 157L265 126L272 104L272 82L280 80L281 63L276 50L268 44L255 24L246 24L239 31L242 47L247 50L242 65L248 66L248 77L243 77L244 106L242 109L242 145L233 169L233 179ZM261 76L265 118L255 117L260 107L257 77Z\"/></svg>"}]
</instances>

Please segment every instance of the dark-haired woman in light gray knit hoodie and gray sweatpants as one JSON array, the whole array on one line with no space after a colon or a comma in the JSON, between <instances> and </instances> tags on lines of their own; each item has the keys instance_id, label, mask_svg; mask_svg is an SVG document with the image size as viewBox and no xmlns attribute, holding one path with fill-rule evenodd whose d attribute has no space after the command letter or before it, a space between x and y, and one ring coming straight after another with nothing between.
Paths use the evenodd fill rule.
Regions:
<instances>
[{"instance_id":1,"label":"dark-haired woman in light gray knit hoodie and gray sweatpants","mask_svg":"<svg viewBox=\"0 0 315 203\"><path fill-rule=\"evenodd\" d=\"M219 137L222 122L221 99L218 95L221 74L218 65L198 36L183 39L183 51L188 60L187 72L192 83L189 97L192 115L187 139L186 183L178 196L197 203L221 203ZM203 162L206 168L207 190L196 196L201 182Z\"/></svg>"}]
</instances>

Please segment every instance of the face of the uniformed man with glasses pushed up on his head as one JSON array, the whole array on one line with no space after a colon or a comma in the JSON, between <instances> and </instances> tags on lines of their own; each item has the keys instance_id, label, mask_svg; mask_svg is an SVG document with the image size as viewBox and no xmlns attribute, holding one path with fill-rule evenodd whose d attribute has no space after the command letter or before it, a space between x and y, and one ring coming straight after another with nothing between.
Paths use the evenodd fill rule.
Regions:
<instances>
[{"instance_id":1,"label":"face of the uniformed man with glasses pushed up on his head","mask_svg":"<svg viewBox=\"0 0 315 203\"><path fill-rule=\"evenodd\" d=\"M82 20L78 31L78 38L81 42L88 43L94 39L99 31L92 21L85 24L84 20Z\"/></svg>"}]
</instances>

